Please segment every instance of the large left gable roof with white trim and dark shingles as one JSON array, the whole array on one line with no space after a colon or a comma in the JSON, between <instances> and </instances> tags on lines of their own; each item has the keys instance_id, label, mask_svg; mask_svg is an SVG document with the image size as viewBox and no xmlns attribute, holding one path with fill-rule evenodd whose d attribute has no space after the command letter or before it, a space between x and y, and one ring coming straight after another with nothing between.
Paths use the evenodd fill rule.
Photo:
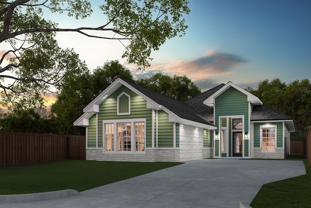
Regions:
<instances>
[{"instance_id":1,"label":"large left gable roof with white trim and dark shingles","mask_svg":"<svg viewBox=\"0 0 311 208\"><path fill-rule=\"evenodd\" d=\"M216 127L210 123L206 118L196 113L189 105L184 102L175 100L166 95L156 93L150 89L142 87L138 84L130 82L126 79L117 78L108 88L106 88L100 95L98 95L92 102L90 102L84 109L85 112L80 118L78 118L74 125L86 126L83 124L83 118L90 117L88 113L99 113L99 105L117 90L121 85L129 88L139 96L143 97L147 101L147 108L155 110L163 110L169 114L169 120L171 122L184 123L188 125L195 125L202 128L216 129Z\"/></svg>"}]
</instances>

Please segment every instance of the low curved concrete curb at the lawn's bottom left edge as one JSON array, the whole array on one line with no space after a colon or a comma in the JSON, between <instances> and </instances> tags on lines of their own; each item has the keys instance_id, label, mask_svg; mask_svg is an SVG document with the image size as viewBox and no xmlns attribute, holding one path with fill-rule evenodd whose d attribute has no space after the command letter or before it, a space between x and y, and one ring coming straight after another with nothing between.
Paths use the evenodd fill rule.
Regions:
<instances>
[{"instance_id":1,"label":"low curved concrete curb at the lawn's bottom left edge","mask_svg":"<svg viewBox=\"0 0 311 208\"><path fill-rule=\"evenodd\" d=\"M47 199L55 199L77 195L79 192L74 189L56 190L42 193L26 193L26 194L11 194L0 195L0 203L5 202L29 202Z\"/></svg>"}]
</instances>

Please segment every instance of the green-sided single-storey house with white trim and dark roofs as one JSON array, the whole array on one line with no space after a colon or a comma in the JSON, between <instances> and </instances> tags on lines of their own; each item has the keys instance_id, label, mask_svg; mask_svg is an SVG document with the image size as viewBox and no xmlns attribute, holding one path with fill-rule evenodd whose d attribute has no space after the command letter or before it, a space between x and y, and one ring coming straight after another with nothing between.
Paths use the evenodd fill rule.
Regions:
<instances>
[{"instance_id":1,"label":"green-sided single-storey house with white trim and dark roofs","mask_svg":"<svg viewBox=\"0 0 311 208\"><path fill-rule=\"evenodd\" d=\"M202 158L284 158L291 117L232 82L186 102L122 78L84 108L86 159L185 161Z\"/></svg>"}]
</instances>

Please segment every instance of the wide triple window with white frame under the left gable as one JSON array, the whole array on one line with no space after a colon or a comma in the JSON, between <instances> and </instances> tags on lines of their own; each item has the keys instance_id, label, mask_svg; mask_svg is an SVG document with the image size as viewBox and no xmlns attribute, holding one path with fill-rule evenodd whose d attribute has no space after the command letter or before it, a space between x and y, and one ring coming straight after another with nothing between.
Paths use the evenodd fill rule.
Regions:
<instances>
[{"instance_id":1,"label":"wide triple window with white frame under the left gable","mask_svg":"<svg viewBox=\"0 0 311 208\"><path fill-rule=\"evenodd\" d=\"M146 119L103 121L105 152L144 152ZM116 144L116 145L114 145Z\"/></svg>"}]
</instances>

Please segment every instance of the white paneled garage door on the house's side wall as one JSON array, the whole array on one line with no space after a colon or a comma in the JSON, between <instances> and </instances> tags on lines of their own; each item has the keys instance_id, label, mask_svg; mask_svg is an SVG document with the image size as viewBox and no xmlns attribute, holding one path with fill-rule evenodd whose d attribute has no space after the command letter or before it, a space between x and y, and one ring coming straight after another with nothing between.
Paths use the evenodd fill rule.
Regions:
<instances>
[{"instance_id":1,"label":"white paneled garage door on the house's side wall","mask_svg":"<svg viewBox=\"0 0 311 208\"><path fill-rule=\"evenodd\" d=\"M203 129L179 125L180 160L202 159Z\"/></svg>"}]
</instances>

